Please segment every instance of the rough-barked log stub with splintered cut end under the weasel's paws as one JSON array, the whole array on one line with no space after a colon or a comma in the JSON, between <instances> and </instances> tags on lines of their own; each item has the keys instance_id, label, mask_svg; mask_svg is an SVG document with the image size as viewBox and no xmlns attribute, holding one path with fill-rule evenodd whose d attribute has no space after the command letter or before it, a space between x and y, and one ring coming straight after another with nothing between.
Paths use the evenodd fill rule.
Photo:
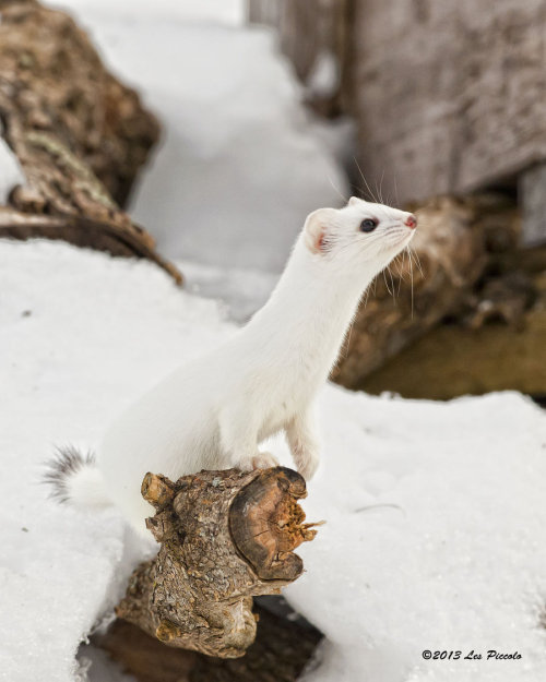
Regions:
<instances>
[{"instance_id":1,"label":"rough-barked log stub with splintered cut end under the weasel's paws","mask_svg":"<svg viewBox=\"0 0 546 682\"><path fill-rule=\"evenodd\" d=\"M147 474L142 494L161 548L133 573L117 615L173 647L242 656L256 637L252 597L278 594L304 570L293 550L317 533L298 505L305 480L284 467L176 482Z\"/></svg>"}]
</instances>

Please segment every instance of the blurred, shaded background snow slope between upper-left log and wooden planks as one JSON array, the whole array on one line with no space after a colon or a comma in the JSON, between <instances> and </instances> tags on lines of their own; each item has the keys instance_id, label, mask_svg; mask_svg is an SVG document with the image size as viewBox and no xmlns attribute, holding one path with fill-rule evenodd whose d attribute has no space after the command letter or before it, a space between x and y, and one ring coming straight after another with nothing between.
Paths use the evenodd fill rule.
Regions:
<instances>
[{"instance_id":1,"label":"blurred, shaded background snow slope between upper-left log and wooden planks","mask_svg":"<svg viewBox=\"0 0 546 682\"><path fill-rule=\"evenodd\" d=\"M124 3L64 4L165 127L134 218L170 258L278 272L306 215L348 191L273 35L181 21L169 3L130 16Z\"/></svg>"}]
</instances>

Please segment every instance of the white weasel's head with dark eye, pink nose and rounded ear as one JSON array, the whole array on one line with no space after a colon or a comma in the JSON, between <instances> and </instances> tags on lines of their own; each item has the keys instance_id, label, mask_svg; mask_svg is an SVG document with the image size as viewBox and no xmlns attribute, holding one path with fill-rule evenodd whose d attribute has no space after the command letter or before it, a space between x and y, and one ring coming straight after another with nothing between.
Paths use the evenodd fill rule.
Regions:
<instances>
[{"instance_id":1,"label":"white weasel's head with dark eye, pink nose and rounded ear","mask_svg":"<svg viewBox=\"0 0 546 682\"><path fill-rule=\"evenodd\" d=\"M381 271L412 240L417 218L405 211L352 196L343 208L307 216L304 241L313 258L343 268Z\"/></svg>"}]
</instances>

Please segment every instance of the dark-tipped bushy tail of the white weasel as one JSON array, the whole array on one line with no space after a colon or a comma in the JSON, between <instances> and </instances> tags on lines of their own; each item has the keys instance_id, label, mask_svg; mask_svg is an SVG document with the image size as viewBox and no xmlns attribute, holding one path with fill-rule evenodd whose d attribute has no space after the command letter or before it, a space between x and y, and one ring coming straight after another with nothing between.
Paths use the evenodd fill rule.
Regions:
<instances>
[{"instance_id":1,"label":"dark-tipped bushy tail of the white weasel","mask_svg":"<svg viewBox=\"0 0 546 682\"><path fill-rule=\"evenodd\" d=\"M57 447L55 456L46 462L43 481L49 486L50 496L58 502L87 510L114 504L106 494L94 453L83 454L73 445Z\"/></svg>"}]
</instances>

